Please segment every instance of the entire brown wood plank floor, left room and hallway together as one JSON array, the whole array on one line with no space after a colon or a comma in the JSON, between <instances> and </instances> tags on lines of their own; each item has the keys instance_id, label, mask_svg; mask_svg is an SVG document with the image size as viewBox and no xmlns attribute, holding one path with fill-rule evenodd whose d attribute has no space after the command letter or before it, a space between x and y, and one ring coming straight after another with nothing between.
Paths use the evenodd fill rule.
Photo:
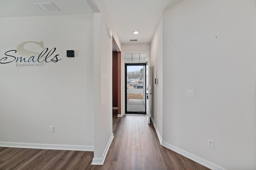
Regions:
<instances>
[{"instance_id":1,"label":"entire brown wood plank floor, left room and hallway together","mask_svg":"<svg viewBox=\"0 0 256 170\"><path fill-rule=\"evenodd\" d=\"M0 170L208 170L160 145L144 116L116 117L104 165L91 165L93 152L0 147Z\"/></svg>"}]
</instances>

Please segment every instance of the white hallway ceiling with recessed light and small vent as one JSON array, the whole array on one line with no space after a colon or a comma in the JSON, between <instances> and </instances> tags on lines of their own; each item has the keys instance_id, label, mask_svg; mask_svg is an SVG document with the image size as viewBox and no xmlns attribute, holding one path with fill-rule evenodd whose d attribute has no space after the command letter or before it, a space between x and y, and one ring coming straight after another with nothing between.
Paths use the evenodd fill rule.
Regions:
<instances>
[{"instance_id":1,"label":"white hallway ceiling with recessed light and small vent","mask_svg":"<svg viewBox=\"0 0 256 170\"><path fill-rule=\"evenodd\" d=\"M164 9L182 0L105 0L122 44L150 43ZM138 30L139 34L133 34ZM137 39L138 42L130 42Z\"/></svg>"}]
</instances>

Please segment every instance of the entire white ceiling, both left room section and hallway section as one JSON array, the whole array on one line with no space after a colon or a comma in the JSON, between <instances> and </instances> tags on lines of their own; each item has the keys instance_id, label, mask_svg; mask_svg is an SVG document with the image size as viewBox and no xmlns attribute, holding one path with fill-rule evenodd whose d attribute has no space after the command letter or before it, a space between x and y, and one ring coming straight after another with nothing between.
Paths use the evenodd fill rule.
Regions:
<instances>
[{"instance_id":1,"label":"entire white ceiling, both left room section and hallway section","mask_svg":"<svg viewBox=\"0 0 256 170\"><path fill-rule=\"evenodd\" d=\"M150 43L164 9L182 0L104 0L122 44ZM35 3L52 2L60 11L44 11ZM86 0L0 0L0 17L91 14ZM133 34L134 30L140 33ZM137 39L138 42L130 42Z\"/></svg>"}]
</instances>

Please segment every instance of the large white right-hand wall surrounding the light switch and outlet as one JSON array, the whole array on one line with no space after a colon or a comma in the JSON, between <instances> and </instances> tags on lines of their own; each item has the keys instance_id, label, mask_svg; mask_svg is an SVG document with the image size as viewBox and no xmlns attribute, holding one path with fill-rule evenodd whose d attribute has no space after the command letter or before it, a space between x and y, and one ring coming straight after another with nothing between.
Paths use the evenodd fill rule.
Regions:
<instances>
[{"instance_id":1,"label":"large white right-hand wall surrounding the light switch and outlet","mask_svg":"<svg viewBox=\"0 0 256 170\"><path fill-rule=\"evenodd\" d=\"M256 169L255 16L255 0L184 0L164 11L164 146L216 169Z\"/></svg>"}]
</instances>

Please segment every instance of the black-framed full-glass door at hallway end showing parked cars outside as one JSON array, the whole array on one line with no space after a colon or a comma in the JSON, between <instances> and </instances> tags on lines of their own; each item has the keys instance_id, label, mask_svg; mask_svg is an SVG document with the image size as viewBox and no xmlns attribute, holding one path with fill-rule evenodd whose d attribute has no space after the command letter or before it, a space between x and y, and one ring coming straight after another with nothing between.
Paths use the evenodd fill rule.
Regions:
<instances>
[{"instance_id":1,"label":"black-framed full-glass door at hallway end showing parked cars outside","mask_svg":"<svg viewBox=\"0 0 256 170\"><path fill-rule=\"evenodd\" d=\"M125 113L146 114L146 63L125 64Z\"/></svg>"}]
</instances>

